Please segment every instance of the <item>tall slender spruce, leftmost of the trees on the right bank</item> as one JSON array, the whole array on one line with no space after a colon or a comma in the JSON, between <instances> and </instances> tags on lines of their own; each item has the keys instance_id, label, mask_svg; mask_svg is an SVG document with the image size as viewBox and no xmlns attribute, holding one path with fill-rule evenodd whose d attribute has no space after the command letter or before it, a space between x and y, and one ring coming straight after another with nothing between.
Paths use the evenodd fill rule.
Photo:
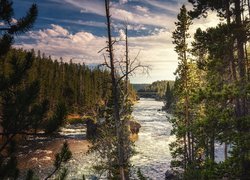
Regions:
<instances>
[{"instance_id":1,"label":"tall slender spruce, leftmost of the trees on the right bank","mask_svg":"<svg viewBox=\"0 0 250 180\"><path fill-rule=\"evenodd\" d=\"M173 32L173 43L175 46L175 51L178 54L178 59L180 60L179 66L177 68L176 74L176 93L178 93L179 103L177 102L178 108L183 110L183 113L177 113L176 124L182 124L182 128L184 129L182 133L179 133L178 140L183 139L183 150L182 152L182 165L183 168L186 169L188 163L191 162L192 152L191 152L191 134L187 129L190 126L190 100L189 100L189 79L188 79L188 43L187 39L189 38L188 29L191 25L191 19L187 14L187 9L183 5L180 9L180 13L177 16L178 22L175 23L176 30ZM178 90L177 90L178 89ZM181 111L181 110L178 110ZM177 127L180 128L180 127Z\"/></svg>"}]
</instances>

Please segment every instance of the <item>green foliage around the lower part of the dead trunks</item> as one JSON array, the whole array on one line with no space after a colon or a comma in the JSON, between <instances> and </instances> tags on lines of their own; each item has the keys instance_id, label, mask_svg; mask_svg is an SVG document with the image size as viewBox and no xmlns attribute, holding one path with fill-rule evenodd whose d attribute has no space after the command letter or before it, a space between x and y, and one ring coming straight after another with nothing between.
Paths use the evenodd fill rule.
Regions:
<instances>
[{"instance_id":1,"label":"green foliage around the lower part of the dead trunks","mask_svg":"<svg viewBox=\"0 0 250 180\"><path fill-rule=\"evenodd\" d=\"M122 131L122 147L125 176L129 178L130 174L130 158L133 156L133 142L129 139L128 121L131 120L131 106L132 102L127 99L122 102L124 97L120 97L119 106L123 106L121 112L120 130ZM90 152L94 152L98 161L94 164L96 173L107 173L107 179L119 179L119 162L117 160L118 154L118 139L116 135L116 125L113 117L113 100L110 99L105 111L105 121L98 126L97 138L91 139L93 146ZM121 133L121 132L120 132Z\"/></svg>"}]
</instances>

